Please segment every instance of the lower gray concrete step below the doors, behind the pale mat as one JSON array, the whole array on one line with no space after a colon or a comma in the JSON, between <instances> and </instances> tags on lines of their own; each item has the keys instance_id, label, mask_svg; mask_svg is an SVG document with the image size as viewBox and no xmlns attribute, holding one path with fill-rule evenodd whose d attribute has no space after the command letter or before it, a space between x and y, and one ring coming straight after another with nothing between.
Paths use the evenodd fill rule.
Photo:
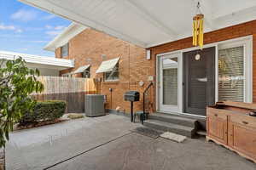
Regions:
<instances>
[{"instance_id":1,"label":"lower gray concrete step below the doors, behind the pale mat","mask_svg":"<svg viewBox=\"0 0 256 170\"><path fill-rule=\"evenodd\" d=\"M171 122L161 122L159 120L148 119L144 122L144 126L153 128L157 131L181 134L189 138L195 138L196 135L196 130L194 127L186 127Z\"/></svg>"}]
</instances>

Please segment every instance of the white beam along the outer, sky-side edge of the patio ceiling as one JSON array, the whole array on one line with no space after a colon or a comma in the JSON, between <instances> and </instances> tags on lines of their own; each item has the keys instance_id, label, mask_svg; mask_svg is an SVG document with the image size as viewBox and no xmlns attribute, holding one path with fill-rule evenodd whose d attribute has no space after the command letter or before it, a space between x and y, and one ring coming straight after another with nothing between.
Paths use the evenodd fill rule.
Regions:
<instances>
[{"instance_id":1,"label":"white beam along the outer, sky-side edge of the patio ceiling","mask_svg":"<svg viewBox=\"0 0 256 170\"><path fill-rule=\"evenodd\" d=\"M42 10L47 11L51 14L59 15L62 18L66 18L67 20L73 20L74 22L77 22L81 25L93 28L96 31L102 31L112 37L117 37L124 41L131 42L131 43L136 44L137 46L140 46L142 48L147 47L146 42L140 41L135 37L125 35L124 33L114 30L113 28L110 28L108 26L105 26L102 23L97 22L96 20L87 18L86 14L84 14L84 15L78 14L78 13L76 13L75 8L71 8L71 7L65 8L65 7L55 3L54 0L44 0L44 1L41 1L41 0L19 0L19 1L21 1L22 3L32 5L36 8L41 8Z\"/></svg>"}]
</instances>

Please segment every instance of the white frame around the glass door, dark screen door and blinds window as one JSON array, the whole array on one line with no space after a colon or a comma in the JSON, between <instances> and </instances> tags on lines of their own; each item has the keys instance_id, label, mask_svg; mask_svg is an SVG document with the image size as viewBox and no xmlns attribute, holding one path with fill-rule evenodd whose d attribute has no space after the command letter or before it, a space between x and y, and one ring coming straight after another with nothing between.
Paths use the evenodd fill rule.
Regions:
<instances>
[{"instance_id":1,"label":"white frame around the glass door, dark screen door and blinds window","mask_svg":"<svg viewBox=\"0 0 256 170\"><path fill-rule=\"evenodd\" d=\"M247 59L245 60L247 62L247 66L246 66L246 80L247 80L247 84L246 84L246 95L245 95L245 101L246 102L253 102L253 36L246 36L246 37L238 37L238 38L233 38L230 40L225 40L225 41L220 41L220 42L212 42L212 43L208 43L206 45L204 45L204 48L210 48L210 47L215 47L216 50L216 57L215 57L215 62L216 62L216 71L215 71L215 100L218 101L218 48L219 45L221 45L222 47L229 47L229 45L238 45L241 44L243 42L243 44L246 44L246 49L244 50L247 54L245 56L247 56ZM231 47L231 46L230 46ZM169 55L169 54L175 54L175 53L180 53L183 54L184 52L189 52L189 51L193 51L196 49L200 49L199 47L193 47L193 48L184 48L184 49L180 49L180 50L176 50L176 51L172 51L172 52L167 52L167 53L162 53L162 54L156 54L156 82L157 82L157 86L156 86L156 111L160 111L160 103L159 103L159 58L161 56L164 55ZM181 59L183 59L183 57L181 57ZM183 62L182 62L183 64ZM183 69L182 69L183 70ZM182 73L183 76L183 73ZM182 89L182 98L183 98L183 89ZM183 100L182 100L183 102ZM161 112L161 111L160 111ZM172 111L170 113L173 113ZM198 116L198 115L192 115L192 114L188 114L188 113L183 113L183 105L181 108L181 111L179 111L177 114L180 115L188 115L188 116L197 116L197 117L206 117L206 116Z\"/></svg>"}]
</instances>

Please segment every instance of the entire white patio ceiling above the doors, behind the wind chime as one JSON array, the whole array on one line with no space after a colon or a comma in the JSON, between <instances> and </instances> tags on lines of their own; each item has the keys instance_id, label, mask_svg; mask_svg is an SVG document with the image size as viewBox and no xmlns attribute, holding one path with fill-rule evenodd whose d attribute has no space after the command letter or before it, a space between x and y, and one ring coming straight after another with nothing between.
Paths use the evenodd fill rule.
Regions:
<instances>
[{"instance_id":1,"label":"entire white patio ceiling above the doors, behind the wind chime","mask_svg":"<svg viewBox=\"0 0 256 170\"><path fill-rule=\"evenodd\" d=\"M198 0L20 0L143 48L190 37ZM205 31L256 20L256 0L199 0Z\"/></svg>"}]
</instances>

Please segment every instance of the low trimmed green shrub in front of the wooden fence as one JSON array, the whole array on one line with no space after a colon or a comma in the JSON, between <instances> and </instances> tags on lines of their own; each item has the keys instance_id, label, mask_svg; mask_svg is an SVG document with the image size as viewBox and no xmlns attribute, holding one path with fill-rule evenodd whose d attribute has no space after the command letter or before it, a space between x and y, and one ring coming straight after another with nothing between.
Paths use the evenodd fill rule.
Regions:
<instances>
[{"instance_id":1,"label":"low trimmed green shrub in front of the wooden fence","mask_svg":"<svg viewBox=\"0 0 256 170\"><path fill-rule=\"evenodd\" d=\"M66 102L59 100L38 101L32 112L26 113L20 119L20 125L53 121L65 113Z\"/></svg>"}]
</instances>

